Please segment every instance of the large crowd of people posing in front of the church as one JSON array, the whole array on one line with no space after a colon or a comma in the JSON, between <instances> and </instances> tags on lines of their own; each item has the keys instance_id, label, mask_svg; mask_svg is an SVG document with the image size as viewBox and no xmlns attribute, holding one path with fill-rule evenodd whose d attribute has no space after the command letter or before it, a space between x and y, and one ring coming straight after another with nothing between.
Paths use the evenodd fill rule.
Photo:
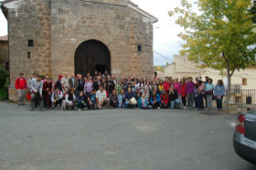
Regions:
<instances>
[{"instance_id":1,"label":"large crowd of people posing in front of the church","mask_svg":"<svg viewBox=\"0 0 256 170\"><path fill-rule=\"evenodd\" d=\"M26 91L28 89L28 95ZM18 104L24 105L29 96L31 111L39 107L61 110L96 110L102 108L130 109L197 109L212 110L212 101L222 111L222 100L225 94L223 81L218 80L214 86L212 80L198 77L193 80L165 78L148 80L147 78L122 77L116 80L114 75L95 71L86 76L67 72L59 75L53 82L49 75L36 73L26 80L21 73L16 79Z\"/></svg>"}]
</instances>

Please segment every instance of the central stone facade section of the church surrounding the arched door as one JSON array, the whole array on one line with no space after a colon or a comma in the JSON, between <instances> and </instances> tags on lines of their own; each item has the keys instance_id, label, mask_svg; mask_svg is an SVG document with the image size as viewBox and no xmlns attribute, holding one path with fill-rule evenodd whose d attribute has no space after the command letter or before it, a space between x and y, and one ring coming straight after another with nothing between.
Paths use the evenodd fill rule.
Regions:
<instances>
[{"instance_id":1,"label":"central stone facade section of the church surrounding the arched door","mask_svg":"<svg viewBox=\"0 0 256 170\"><path fill-rule=\"evenodd\" d=\"M64 3L65 2L65 3ZM51 8L51 70L54 79L74 72L74 55L80 43L96 39L111 52L112 73L130 72L130 17L128 6L59 0ZM63 67L65 66L65 67Z\"/></svg>"}]
</instances>

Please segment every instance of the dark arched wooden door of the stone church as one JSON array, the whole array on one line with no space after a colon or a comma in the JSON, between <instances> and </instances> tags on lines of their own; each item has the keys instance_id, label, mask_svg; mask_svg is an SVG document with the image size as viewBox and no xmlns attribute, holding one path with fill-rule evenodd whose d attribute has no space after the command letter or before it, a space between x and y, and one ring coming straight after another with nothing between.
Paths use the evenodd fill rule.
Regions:
<instances>
[{"instance_id":1,"label":"dark arched wooden door of the stone church","mask_svg":"<svg viewBox=\"0 0 256 170\"><path fill-rule=\"evenodd\" d=\"M85 76L97 70L111 73L111 57L109 49L98 40L88 40L80 44L75 53L75 72Z\"/></svg>"}]
</instances>

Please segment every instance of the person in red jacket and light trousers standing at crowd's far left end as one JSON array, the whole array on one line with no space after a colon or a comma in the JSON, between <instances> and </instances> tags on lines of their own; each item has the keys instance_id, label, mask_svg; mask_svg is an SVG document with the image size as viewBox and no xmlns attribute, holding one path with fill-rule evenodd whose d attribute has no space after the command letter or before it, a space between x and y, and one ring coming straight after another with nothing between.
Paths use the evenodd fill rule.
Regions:
<instances>
[{"instance_id":1,"label":"person in red jacket and light trousers standing at crowd's far left end","mask_svg":"<svg viewBox=\"0 0 256 170\"><path fill-rule=\"evenodd\" d=\"M27 80L24 78L24 74L20 73L16 79L16 90L18 96L18 105L25 105L25 93L27 89Z\"/></svg>"}]
</instances>

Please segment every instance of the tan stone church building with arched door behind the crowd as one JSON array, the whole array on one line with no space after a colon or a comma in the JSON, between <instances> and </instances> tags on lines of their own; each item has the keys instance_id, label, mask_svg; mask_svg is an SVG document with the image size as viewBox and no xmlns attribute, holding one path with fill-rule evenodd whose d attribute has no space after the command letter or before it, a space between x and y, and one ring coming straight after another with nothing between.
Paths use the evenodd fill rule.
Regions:
<instances>
[{"instance_id":1,"label":"tan stone church building with arched door behind the crowd","mask_svg":"<svg viewBox=\"0 0 256 170\"><path fill-rule=\"evenodd\" d=\"M16 77L108 70L121 76L153 77L153 24L130 0L6 0L9 98Z\"/></svg>"}]
</instances>

